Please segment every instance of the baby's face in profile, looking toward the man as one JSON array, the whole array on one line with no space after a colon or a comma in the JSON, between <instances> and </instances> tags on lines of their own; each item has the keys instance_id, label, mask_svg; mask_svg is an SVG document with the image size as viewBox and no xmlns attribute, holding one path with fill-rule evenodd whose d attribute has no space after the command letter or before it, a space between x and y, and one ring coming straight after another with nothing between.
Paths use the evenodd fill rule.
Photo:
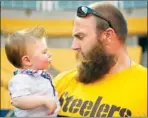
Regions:
<instances>
[{"instance_id":1,"label":"baby's face in profile, looking toward the man","mask_svg":"<svg viewBox=\"0 0 148 118\"><path fill-rule=\"evenodd\" d=\"M44 40L37 40L31 47L30 62L33 69L47 70L51 63L51 54L48 53L47 45Z\"/></svg>"}]
</instances>

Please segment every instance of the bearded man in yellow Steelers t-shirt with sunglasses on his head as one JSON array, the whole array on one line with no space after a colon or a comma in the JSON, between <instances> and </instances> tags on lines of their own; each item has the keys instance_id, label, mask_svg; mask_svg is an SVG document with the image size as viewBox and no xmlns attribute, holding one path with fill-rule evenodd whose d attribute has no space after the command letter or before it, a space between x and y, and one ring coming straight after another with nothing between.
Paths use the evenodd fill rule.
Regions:
<instances>
[{"instance_id":1,"label":"bearded man in yellow Steelers t-shirt with sunglasses on his head","mask_svg":"<svg viewBox=\"0 0 148 118\"><path fill-rule=\"evenodd\" d=\"M54 79L59 116L147 116L147 70L127 54L119 9L100 2L79 7L73 36L78 67Z\"/></svg>"}]
</instances>

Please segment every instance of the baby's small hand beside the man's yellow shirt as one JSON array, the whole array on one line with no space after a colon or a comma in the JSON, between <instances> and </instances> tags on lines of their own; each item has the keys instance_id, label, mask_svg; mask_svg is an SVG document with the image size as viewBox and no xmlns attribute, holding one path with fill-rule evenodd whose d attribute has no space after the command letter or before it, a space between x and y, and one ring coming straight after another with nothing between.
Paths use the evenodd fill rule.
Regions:
<instances>
[{"instance_id":1,"label":"baby's small hand beside the man's yellow shirt","mask_svg":"<svg viewBox=\"0 0 148 118\"><path fill-rule=\"evenodd\" d=\"M53 114L55 109L57 108L57 104L55 100L46 99L45 106L49 109L49 115Z\"/></svg>"}]
</instances>

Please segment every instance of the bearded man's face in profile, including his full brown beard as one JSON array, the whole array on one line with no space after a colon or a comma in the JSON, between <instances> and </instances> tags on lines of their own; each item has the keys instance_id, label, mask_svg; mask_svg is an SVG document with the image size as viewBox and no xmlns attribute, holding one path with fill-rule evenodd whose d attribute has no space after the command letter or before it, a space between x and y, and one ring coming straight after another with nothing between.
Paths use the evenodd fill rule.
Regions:
<instances>
[{"instance_id":1,"label":"bearded man's face in profile, including his full brown beard","mask_svg":"<svg viewBox=\"0 0 148 118\"><path fill-rule=\"evenodd\" d=\"M115 64L114 56L107 53L101 33L97 33L92 16L76 17L73 27L72 49L77 51L78 81L90 83L102 78Z\"/></svg>"}]
</instances>

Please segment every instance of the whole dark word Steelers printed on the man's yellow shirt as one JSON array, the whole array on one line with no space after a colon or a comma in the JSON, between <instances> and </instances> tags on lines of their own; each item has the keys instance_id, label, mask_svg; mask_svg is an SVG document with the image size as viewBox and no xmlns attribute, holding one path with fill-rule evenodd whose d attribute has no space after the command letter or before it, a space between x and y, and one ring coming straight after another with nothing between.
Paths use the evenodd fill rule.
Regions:
<instances>
[{"instance_id":1,"label":"whole dark word Steelers printed on the man's yellow shirt","mask_svg":"<svg viewBox=\"0 0 148 118\"><path fill-rule=\"evenodd\" d=\"M110 105L108 104L101 104L101 100L102 100L101 96L98 96L95 104L93 104L92 101L84 101L83 103L81 99L74 99L73 101L72 100L73 100L73 96L68 97L68 92L65 92L61 95L60 104L61 106L63 106L62 109L64 112L67 112L67 110L69 109L70 113L77 113L80 110L79 111L80 115L84 117L88 117L90 112L91 112L90 117L94 117L95 115L96 117L112 117L115 111L119 111L120 117L132 116L132 112L127 108L121 109L121 107L117 107L115 105L112 105L110 108ZM70 105L70 102L72 102L71 105ZM68 105L70 106L69 108L68 108Z\"/></svg>"}]
</instances>

